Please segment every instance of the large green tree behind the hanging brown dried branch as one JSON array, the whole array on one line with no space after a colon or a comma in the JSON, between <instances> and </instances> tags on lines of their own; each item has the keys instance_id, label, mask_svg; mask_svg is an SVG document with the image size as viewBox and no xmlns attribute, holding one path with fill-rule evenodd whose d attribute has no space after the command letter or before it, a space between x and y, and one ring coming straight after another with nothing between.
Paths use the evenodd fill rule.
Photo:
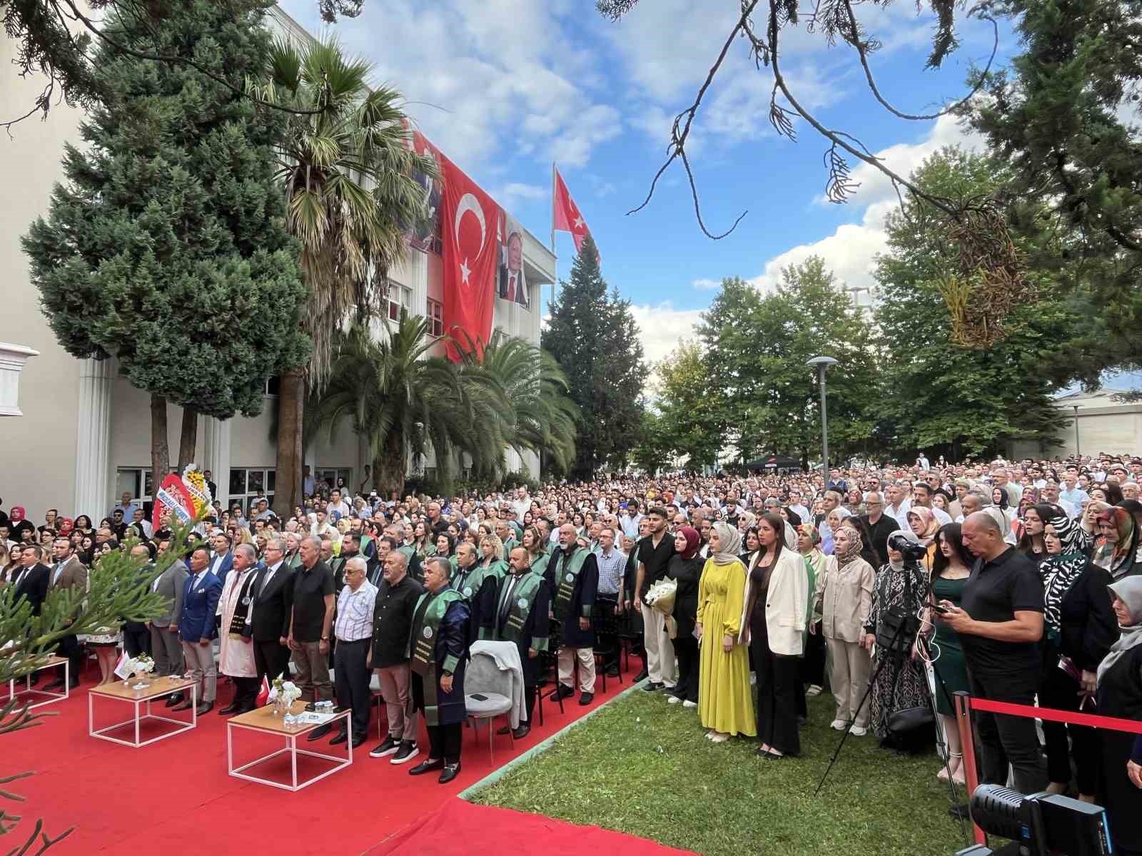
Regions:
<instances>
[{"instance_id":1,"label":"large green tree behind the hanging brown dried branch","mask_svg":"<svg viewBox=\"0 0 1142 856\"><path fill-rule=\"evenodd\" d=\"M931 193L966 199L995 193L1008 172L989 156L944 148L912 178ZM1080 318L1056 297L1053 269L1062 265L1046 264L1049 229L1037 208L1034 202L1013 207L1010 216L1021 235L1021 251L1040 260L1028 272L1040 298L1011 313L1006 336L986 352L951 340L939 283L955 248L925 227L931 213L925 203L911 201L888 216L888 250L876 265L886 390L878 415L887 447L909 454L923 449L960 460L1006 452L1006 441L1016 437L1046 442L1054 435L1059 414L1051 393L1067 378L1048 366L1060 363Z\"/></svg>"}]
</instances>

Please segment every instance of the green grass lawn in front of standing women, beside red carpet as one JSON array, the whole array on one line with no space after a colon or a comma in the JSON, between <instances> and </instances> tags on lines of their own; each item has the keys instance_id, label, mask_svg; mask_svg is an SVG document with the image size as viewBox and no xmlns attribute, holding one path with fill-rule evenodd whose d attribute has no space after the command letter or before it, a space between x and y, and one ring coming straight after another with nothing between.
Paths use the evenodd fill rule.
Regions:
<instances>
[{"instance_id":1,"label":"green grass lawn in front of standing women, beside red carpet","mask_svg":"<svg viewBox=\"0 0 1142 856\"><path fill-rule=\"evenodd\" d=\"M850 737L820 796L839 734L810 698L802 756L770 761L755 741L715 744L695 710L641 689L571 728L473 800L594 824L709 856L941 856L966 847L935 754L909 758Z\"/></svg>"}]
</instances>

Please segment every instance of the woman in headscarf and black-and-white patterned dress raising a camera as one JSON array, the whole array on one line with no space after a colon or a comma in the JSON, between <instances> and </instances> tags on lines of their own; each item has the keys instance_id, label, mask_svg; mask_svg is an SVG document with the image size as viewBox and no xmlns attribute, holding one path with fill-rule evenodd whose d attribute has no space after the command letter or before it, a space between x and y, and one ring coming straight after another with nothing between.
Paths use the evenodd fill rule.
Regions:
<instances>
[{"instance_id":1,"label":"woman in headscarf and black-and-white patterned dress raising a camera","mask_svg":"<svg viewBox=\"0 0 1142 856\"><path fill-rule=\"evenodd\" d=\"M908 518L912 519L912 511L908 512ZM872 649L878 633L883 635L883 621L890 611L916 615L923 604L927 574L919 566L908 568L904 565L903 554L892 549L892 539L898 534L920 543L915 534L915 527L912 532L896 531L888 535L888 563L876 572L872 606L868 613L868 621L864 622L864 648L868 651ZM891 632L887 635L892 636ZM910 643L910 639L898 639L895 647L876 645L872 670L878 673L872 684L869 710L872 730L880 738L888 736L888 718L898 710L919 708L928 703L927 676L920 661L911 656ZM885 657L890 660L880 669Z\"/></svg>"}]
</instances>

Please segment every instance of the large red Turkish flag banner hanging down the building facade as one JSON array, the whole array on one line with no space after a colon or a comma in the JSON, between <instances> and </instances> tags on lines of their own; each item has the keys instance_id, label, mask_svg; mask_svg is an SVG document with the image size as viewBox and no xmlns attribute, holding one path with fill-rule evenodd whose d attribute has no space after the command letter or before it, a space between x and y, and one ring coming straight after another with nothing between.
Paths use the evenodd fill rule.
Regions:
<instances>
[{"instance_id":1,"label":"large red Turkish flag banner hanging down the building facade","mask_svg":"<svg viewBox=\"0 0 1142 856\"><path fill-rule=\"evenodd\" d=\"M444 332L455 339L448 345L448 356L456 362L469 347L482 353L491 337L499 205L444 156L441 156L441 173Z\"/></svg>"}]
</instances>

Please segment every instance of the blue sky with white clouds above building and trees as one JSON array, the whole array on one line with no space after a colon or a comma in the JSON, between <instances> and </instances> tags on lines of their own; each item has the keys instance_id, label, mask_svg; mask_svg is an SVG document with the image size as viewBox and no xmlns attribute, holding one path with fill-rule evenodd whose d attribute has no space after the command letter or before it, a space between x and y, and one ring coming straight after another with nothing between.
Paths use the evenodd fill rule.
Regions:
<instances>
[{"instance_id":1,"label":"blue sky with white clouds above building and trees","mask_svg":"<svg viewBox=\"0 0 1142 856\"><path fill-rule=\"evenodd\" d=\"M749 213L722 241L698 228L681 163L642 212L670 122L689 106L739 14L737 0L642 0L621 23L593 0L365 0L359 18L323 30L314 0L282 0L311 32L335 32L377 65L377 81L404 94L428 137L533 234L550 232L550 164L560 171L600 245L603 274L635 308L648 356L690 336L723 276L771 286L780 268L812 252L849 286L871 284L887 181L853 164L861 187L849 204L822 200L823 139L798 124L798 142L769 123L771 76L739 42L703 102L687 151L711 232ZM763 5L764 6L764 5ZM991 49L991 27L963 22L960 48L940 71L924 68L932 18L910 0L858 7L884 48L874 72L904 112L930 113L963 95L973 63ZM804 26L785 37L782 70L795 95L830 127L858 135L904 172L941 145L979 145L950 119L891 116L868 92L855 57ZM1016 48L1000 31L998 62ZM556 239L560 276L574 252ZM547 294L544 296L545 300Z\"/></svg>"}]
</instances>

